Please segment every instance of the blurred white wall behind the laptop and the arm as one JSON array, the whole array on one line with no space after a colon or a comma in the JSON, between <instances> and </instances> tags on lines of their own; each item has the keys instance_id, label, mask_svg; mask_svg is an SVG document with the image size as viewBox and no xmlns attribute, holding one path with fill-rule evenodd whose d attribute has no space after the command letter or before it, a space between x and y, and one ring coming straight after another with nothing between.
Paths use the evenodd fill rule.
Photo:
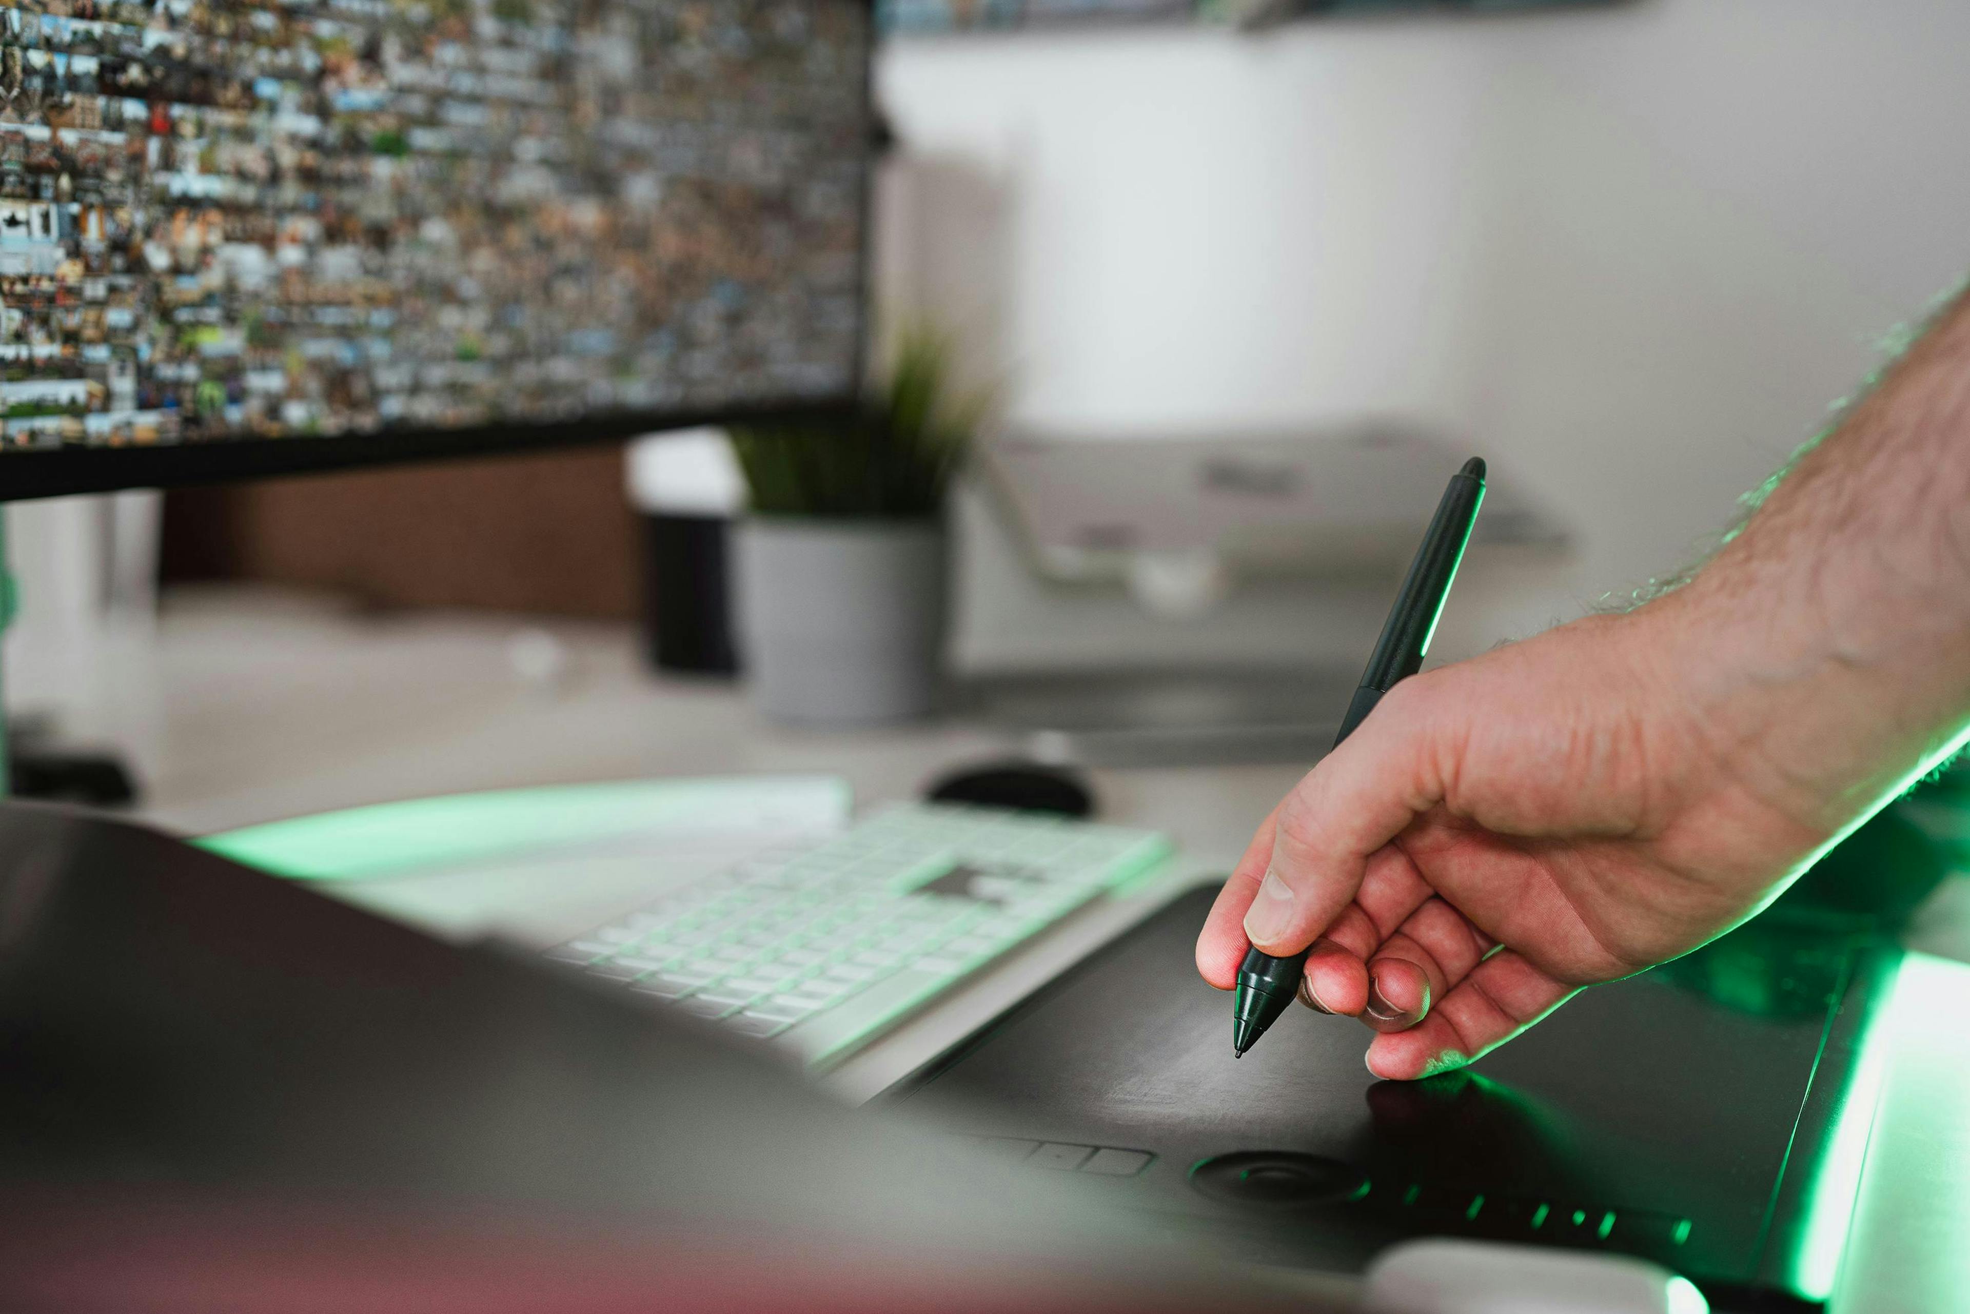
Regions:
<instances>
[{"instance_id":1,"label":"blurred white wall behind the laptop and the arm","mask_svg":"<svg viewBox=\"0 0 1970 1314\"><path fill-rule=\"evenodd\" d=\"M1454 656L1690 561L1970 270L1966 67L1958 0L894 41L885 286L961 321L1017 426L1373 414L1483 453L1578 552L1474 556ZM1318 646L1277 609L1214 628Z\"/></svg>"}]
</instances>

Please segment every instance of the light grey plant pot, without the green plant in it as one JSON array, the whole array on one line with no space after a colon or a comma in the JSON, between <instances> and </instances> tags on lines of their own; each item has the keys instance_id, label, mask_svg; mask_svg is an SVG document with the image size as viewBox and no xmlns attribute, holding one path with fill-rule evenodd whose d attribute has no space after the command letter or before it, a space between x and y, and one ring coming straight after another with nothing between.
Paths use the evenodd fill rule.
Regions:
<instances>
[{"instance_id":1,"label":"light grey plant pot, without the green plant in it","mask_svg":"<svg viewBox=\"0 0 1970 1314\"><path fill-rule=\"evenodd\" d=\"M733 563L741 660L766 715L867 725L936 705L942 524L756 516Z\"/></svg>"}]
</instances>

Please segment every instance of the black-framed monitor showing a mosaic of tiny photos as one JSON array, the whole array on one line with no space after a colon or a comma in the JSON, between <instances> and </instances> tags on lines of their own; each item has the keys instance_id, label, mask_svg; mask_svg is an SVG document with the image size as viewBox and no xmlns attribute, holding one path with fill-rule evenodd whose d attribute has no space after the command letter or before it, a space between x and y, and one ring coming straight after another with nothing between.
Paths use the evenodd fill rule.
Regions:
<instances>
[{"instance_id":1,"label":"black-framed monitor showing a mosaic of tiny photos","mask_svg":"<svg viewBox=\"0 0 1970 1314\"><path fill-rule=\"evenodd\" d=\"M0 496L841 404L855 0L0 8Z\"/></svg>"}]
</instances>

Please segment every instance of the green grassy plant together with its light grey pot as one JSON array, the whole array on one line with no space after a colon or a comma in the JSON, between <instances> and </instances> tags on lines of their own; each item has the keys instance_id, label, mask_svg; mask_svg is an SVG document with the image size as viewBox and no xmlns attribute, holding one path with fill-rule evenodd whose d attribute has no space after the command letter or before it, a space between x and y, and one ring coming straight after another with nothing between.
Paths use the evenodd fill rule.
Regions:
<instances>
[{"instance_id":1,"label":"green grassy plant together with its light grey pot","mask_svg":"<svg viewBox=\"0 0 1970 1314\"><path fill-rule=\"evenodd\" d=\"M735 630L768 715L857 725L934 707L944 494L981 414L950 396L950 341L912 329L853 412L733 429L749 491Z\"/></svg>"}]
</instances>

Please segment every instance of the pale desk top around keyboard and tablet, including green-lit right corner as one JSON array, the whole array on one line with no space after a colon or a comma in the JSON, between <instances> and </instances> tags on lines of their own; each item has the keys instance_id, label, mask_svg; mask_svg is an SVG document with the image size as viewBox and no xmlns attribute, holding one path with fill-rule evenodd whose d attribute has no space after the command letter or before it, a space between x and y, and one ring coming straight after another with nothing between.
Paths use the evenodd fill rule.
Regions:
<instances>
[{"instance_id":1,"label":"pale desk top around keyboard and tablet, including green-lit right corner","mask_svg":"<svg viewBox=\"0 0 1970 1314\"><path fill-rule=\"evenodd\" d=\"M835 772L873 802L1013 749L973 725L772 727L729 686L648 680L624 626L552 626L561 672L526 680L512 656L520 628L203 595L167 609L156 636L104 658L102 723L85 729L132 753L148 786L144 816L179 831L461 790L745 770ZM875 1093L1176 888L1221 871L1298 770L1093 774L1107 820L1170 833L1186 861L1160 888L1070 918L890 1032L835 1074L845 1095ZM506 924L524 932L528 916L514 906ZM558 932L536 926L544 942ZM1970 881L1923 910L1911 944L1970 959ZM1834 1302L1842 1314L1966 1308L1970 1292L1970 1247L1960 1245L1970 1235L1970 967L1917 959L1897 1017Z\"/></svg>"}]
</instances>

